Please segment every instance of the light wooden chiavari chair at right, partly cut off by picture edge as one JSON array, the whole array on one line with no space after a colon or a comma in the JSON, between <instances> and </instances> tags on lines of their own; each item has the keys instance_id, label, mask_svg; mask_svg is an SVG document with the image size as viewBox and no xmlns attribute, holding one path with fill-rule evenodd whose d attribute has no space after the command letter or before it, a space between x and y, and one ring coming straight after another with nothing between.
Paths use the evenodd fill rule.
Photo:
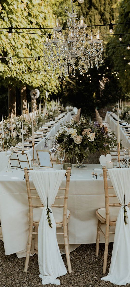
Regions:
<instances>
[{"instance_id":1,"label":"light wooden chiavari chair at right, partly cut off by picture edge","mask_svg":"<svg viewBox=\"0 0 130 287\"><path fill-rule=\"evenodd\" d=\"M109 197L117 197L115 194L109 194L108 189L113 189L113 186L108 186L107 182L107 169L103 166L103 180L104 180L104 193L105 193L105 208L100 208L96 211L96 217L98 218L97 225L97 236L96 236L96 256L99 252L100 233L105 238L105 249L104 249L104 262L103 262L103 273L106 273L107 257L108 257L108 245L109 245L109 234L115 234L115 231L110 232L110 226L116 226L117 216L119 213L120 203L109 203ZM130 204L130 203L129 203ZM101 229L101 226L105 225L105 233Z\"/></svg>"}]
</instances>

